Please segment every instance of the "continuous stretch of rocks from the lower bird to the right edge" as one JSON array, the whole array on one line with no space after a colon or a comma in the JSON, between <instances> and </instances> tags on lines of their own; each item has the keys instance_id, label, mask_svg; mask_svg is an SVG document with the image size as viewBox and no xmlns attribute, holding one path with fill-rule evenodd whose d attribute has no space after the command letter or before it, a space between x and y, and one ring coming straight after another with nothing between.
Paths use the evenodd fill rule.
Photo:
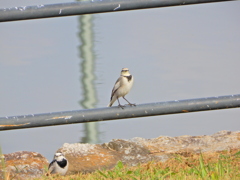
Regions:
<instances>
[{"instance_id":1,"label":"continuous stretch of rocks from the lower bird to the right edge","mask_svg":"<svg viewBox=\"0 0 240 180\"><path fill-rule=\"evenodd\" d=\"M231 149L240 149L240 131L220 131L209 136L114 139L102 145L65 143L57 152L64 153L69 161L67 174L74 174L110 169L118 161L135 166L149 161L164 162L174 154L212 153Z\"/></svg>"}]
</instances>

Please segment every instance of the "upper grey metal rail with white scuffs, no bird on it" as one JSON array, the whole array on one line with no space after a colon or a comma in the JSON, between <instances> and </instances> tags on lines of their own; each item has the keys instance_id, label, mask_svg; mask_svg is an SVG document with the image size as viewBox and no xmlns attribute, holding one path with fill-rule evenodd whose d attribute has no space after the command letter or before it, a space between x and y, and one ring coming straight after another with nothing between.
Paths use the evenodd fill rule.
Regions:
<instances>
[{"instance_id":1,"label":"upper grey metal rail with white scuffs, no bird on it","mask_svg":"<svg viewBox=\"0 0 240 180\"><path fill-rule=\"evenodd\" d=\"M0 22L179 6L230 0L91 0L0 9Z\"/></svg>"}]
</instances>

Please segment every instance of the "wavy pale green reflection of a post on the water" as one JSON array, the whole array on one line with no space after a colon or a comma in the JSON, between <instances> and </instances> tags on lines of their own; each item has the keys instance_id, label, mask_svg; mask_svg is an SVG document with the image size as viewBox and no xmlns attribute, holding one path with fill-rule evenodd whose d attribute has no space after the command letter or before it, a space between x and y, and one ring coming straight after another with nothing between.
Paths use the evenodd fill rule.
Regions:
<instances>
[{"instance_id":1,"label":"wavy pale green reflection of a post on the water","mask_svg":"<svg viewBox=\"0 0 240 180\"><path fill-rule=\"evenodd\" d=\"M79 17L80 23L80 42L79 46L80 57L82 62L80 63L80 72L82 74L81 84L83 90L83 99L79 101L85 109L94 108L97 103L97 93L94 84L95 75L95 56L93 50L93 16L84 15ZM84 123L85 136L81 138L82 143L98 143L98 123Z\"/></svg>"}]
</instances>

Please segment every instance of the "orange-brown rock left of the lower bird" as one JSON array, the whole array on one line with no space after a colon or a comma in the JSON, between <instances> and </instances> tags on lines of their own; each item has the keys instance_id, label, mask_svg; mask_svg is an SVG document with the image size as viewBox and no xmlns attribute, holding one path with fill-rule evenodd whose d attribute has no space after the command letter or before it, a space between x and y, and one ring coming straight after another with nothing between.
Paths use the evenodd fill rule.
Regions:
<instances>
[{"instance_id":1,"label":"orange-brown rock left of the lower bird","mask_svg":"<svg viewBox=\"0 0 240 180\"><path fill-rule=\"evenodd\" d=\"M19 151L4 154L5 167L0 165L0 179L30 179L41 177L48 167L48 160L37 152Z\"/></svg>"}]
</instances>

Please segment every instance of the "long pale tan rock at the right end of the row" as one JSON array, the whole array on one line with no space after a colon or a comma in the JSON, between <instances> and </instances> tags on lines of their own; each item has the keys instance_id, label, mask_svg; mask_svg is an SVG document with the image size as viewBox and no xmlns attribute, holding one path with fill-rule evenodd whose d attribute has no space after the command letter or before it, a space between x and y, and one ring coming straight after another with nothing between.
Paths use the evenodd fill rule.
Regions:
<instances>
[{"instance_id":1,"label":"long pale tan rock at the right end of the row","mask_svg":"<svg viewBox=\"0 0 240 180\"><path fill-rule=\"evenodd\" d=\"M160 136L154 139L133 138L130 141L147 147L151 152L217 152L240 148L240 131L220 131L204 136Z\"/></svg>"}]
</instances>

